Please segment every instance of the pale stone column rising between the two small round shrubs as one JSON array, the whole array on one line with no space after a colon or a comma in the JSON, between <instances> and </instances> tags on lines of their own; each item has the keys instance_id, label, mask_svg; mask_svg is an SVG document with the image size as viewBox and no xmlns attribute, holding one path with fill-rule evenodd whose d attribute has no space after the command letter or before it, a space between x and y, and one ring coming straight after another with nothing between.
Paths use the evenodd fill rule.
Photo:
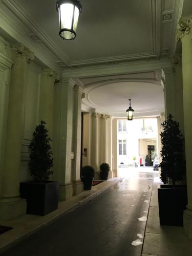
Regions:
<instances>
[{"instance_id":1,"label":"pale stone column rising between the two small round shrubs","mask_svg":"<svg viewBox=\"0 0 192 256\"><path fill-rule=\"evenodd\" d=\"M91 165L95 169L95 179L99 179L99 120L98 114L92 114L92 133L91 133Z\"/></svg>"}]
</instances>

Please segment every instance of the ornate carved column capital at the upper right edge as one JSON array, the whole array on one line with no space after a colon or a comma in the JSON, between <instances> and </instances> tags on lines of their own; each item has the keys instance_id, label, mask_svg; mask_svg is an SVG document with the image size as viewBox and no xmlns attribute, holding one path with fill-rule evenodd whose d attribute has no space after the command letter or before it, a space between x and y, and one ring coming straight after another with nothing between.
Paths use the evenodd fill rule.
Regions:
<instances>
[{"instance_id":1,"label":"ornate carved column capital at the upper right edge","mask_svg":"<svg viewBox=\"0 0 192 256\"><path fill-rule=\"evenodd\" d=\"M182 41L185 35L188 35L192 28L192 16L181 18L177 25L176 41Z\"/></svg>"}]
</instances>

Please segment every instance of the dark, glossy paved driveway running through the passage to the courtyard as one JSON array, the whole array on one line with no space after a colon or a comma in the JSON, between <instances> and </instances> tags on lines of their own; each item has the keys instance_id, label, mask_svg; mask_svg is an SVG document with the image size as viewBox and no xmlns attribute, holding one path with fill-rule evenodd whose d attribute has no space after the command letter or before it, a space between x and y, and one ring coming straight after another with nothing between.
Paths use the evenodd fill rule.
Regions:
<instances>
[{"instance_id":1,"label":"dark, glossy paved driveway running through the passage to the courtyard","mask_svg":"<svg viewBox=\"0 0 192 256\"><path fill-rule=\"evenodd\" d=\"M148 172L149 170L149 172ZM3 256L140 256L151 199L151 169L120 168L109 189L41 228Z\"/></svg>"}]
</instances>

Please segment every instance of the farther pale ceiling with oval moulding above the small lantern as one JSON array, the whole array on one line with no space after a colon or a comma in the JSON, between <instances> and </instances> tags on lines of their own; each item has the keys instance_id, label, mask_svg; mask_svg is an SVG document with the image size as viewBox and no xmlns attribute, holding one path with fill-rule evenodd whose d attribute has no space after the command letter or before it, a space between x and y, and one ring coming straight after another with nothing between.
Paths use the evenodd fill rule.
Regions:
<instances>
[{"instance_id":1,"label":"farther pale ceiling with oval moulding above the small lantern","mask_svg":"<svg viewBox=\"0 0 192 256\"><path fill-rule=\"evenodd\" d=\"M164 111L164 92L159 73L118 77L84 78L84 109L125 117L131 99L135 117L158 116ZM145 78L143 78L145 77Z\"/></svg>"}]
</instances>

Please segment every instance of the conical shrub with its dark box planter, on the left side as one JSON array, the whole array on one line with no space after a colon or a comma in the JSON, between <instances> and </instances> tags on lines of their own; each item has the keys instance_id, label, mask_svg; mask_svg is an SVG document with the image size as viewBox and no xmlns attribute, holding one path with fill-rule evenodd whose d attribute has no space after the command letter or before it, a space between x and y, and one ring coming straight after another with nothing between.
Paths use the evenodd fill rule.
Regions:
<instances>
[{"instance_id":1,"label":"conical shrub with its dark box planter, on the left side","mask_svg":"<svg viewBox=\"0 0 192 256\"><path fill-rule=\"evenodd\" d=\"M50 181L53 173L51 139L41 121L29 145L29 171L32 181L20 182L20 196L27 200L27 214L46 215L58 208L58 181Z\"/></svg>"}]
</instances>

